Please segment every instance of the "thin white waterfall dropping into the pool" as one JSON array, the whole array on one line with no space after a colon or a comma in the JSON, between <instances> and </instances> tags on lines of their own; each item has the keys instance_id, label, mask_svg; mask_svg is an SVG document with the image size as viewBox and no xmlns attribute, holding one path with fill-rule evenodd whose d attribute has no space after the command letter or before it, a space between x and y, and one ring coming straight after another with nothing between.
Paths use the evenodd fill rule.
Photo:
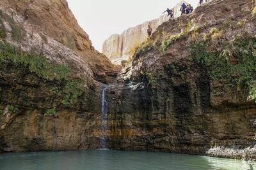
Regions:
<instances>
[{"instance_id":1,"label":"thin white waterfall dropping into the pool","mask_svg":"<svg viewBox=\"0 0 256 170\"><path fill-rule=\"evenodd\" d=\"M101 124L101 131L102 131L102 136L100 138L100 147L102 149L107 148L107 143L106 143L106 131L108 129L108 102L106 100L106 91L108 90L108 85L104 86L103 92L102 92L102 124Z\"/></svg>"}]
</instances>

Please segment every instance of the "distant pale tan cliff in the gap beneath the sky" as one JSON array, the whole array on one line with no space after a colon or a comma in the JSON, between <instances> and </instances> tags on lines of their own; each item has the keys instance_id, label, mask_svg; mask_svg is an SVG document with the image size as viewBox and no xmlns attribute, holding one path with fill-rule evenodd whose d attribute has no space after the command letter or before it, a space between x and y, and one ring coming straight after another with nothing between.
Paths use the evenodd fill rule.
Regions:
<instances>
[{"instance_id":1,"label":"distant pale tan cliff in the gap beneath the sky","mask_svg":"<svg viewBox=\"0 0 256 170\"><path fill-rule=\"evenodd\" d=\"M182 3L186 3L186 1L180 1L180 3L173 8L175 18L179 17L181 14L180 6ZM166 22L167 20L167 15L163 15L156 20L151 20L136 27L127 29L121 35L113 34L104 41L102 53L104 53L104 55L106 55L114 64L121 64L122 60L129 60L129 57L132 55L132 51L134 51L137 46L140 46L141 43L148 38L148 25L152 27L154 32L159 25L163 24L163 22Z\"/></svg>"}]
</instances>

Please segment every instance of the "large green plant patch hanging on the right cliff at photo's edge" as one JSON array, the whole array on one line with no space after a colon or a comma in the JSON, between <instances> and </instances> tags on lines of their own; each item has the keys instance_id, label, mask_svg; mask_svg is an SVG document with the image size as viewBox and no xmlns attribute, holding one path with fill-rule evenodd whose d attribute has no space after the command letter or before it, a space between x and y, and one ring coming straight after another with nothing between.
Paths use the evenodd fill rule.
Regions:
<instances>
[{"instance_id":1,"label":"large green plant patch hanging on the right cliff at photo's edge","mask_svg":"<svg viewBox=\"0 0 256 170\"><path fill-rule=\"evenodd\" d=\"M216 51L207 50L209 43L201 41L191 46L194 62L207 66L212 80L227 80L237 87L250 88L249 99L256 101L256 38L237 36Z\"/></svg>"}]
</instances>

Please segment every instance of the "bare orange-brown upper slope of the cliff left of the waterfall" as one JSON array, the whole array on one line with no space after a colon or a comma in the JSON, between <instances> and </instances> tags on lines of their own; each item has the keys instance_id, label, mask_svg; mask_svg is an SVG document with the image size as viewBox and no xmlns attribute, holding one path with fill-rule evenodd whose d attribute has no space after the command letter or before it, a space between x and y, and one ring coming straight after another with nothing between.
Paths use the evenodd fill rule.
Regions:
<instances>
[{"instance_id":1,"label":"bare orange-brown upper slope of the cliff left of the waterfall","mask_svg":"<svg viewBox=\"0 0 256 170\"><path fill-rule=\"evenodd\" d=\"M40 45L28 43L31 38L25 35L26 32L18 32L20 37L16 39L22 41L17 44L21 44L24 50L35 48L36 51L44 52L45 49L41 48L47 46L48 38L51 38L76 52L90 65L93 76L100 81L108 81L118 73L118 67L113 66L104 55L94 50L88 35L77 24L76 18L69 10L67 1L1 0L0 2L3 12L13 18L20 28L29 29L26 32L30 34L37 34L33 39L36 39L35 41Z\"/></svg>"}]
</instances>

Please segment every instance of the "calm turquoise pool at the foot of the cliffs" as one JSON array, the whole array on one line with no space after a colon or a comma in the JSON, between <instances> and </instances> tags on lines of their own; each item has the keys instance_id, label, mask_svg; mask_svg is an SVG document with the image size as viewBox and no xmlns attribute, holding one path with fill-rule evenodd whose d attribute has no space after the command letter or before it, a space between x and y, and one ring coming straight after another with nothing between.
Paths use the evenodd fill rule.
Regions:
<instances>
[{"instance_id":1,"label":"calm turquoise pool at the foot of the cliffs","mask_svg":"<svg viewBox=\"0 0 256 170\"><path fill-rule=\"evenodd\" d=\"M241 160L157 152L92 150L0 154L1 170L198 170L246 169Z\"/></svg>"}]
</instances>

